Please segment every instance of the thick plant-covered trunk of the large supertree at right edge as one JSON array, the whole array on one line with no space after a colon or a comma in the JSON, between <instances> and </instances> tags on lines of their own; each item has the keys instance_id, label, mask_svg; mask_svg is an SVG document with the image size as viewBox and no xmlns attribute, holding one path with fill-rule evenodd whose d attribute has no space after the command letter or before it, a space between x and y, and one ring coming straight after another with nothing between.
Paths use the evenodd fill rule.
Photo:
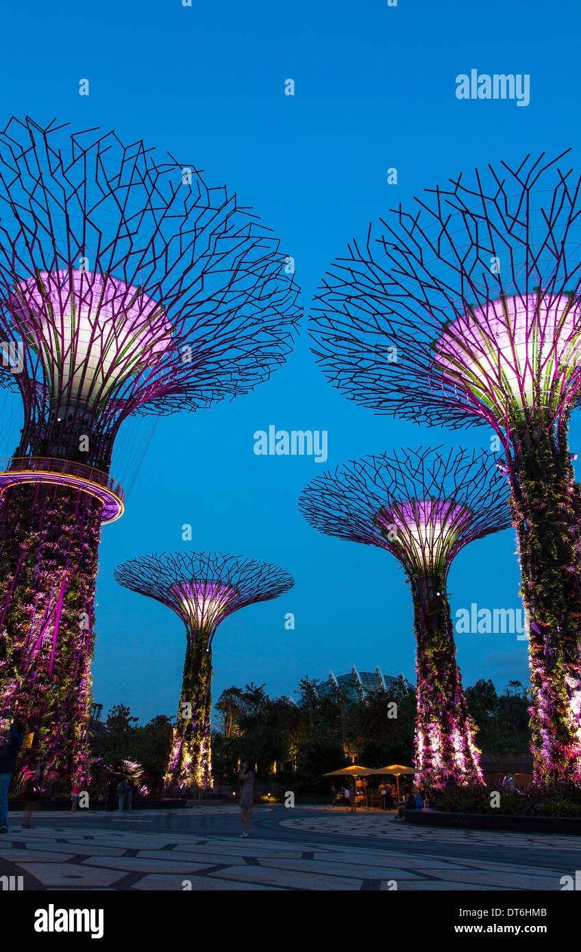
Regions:
<instances>
[{"instance_id":1,"label":"thick plant-covered trunk of the large supertree at right edge","mask_svg":"<svg viewBox=\"0 0 581 952\"><path fill-rule=\"evenodd\" d=\"M529 620L535 783L581 779L579 490L566 437L517 433L512 509Z\"/></svg>"}]
</instances>

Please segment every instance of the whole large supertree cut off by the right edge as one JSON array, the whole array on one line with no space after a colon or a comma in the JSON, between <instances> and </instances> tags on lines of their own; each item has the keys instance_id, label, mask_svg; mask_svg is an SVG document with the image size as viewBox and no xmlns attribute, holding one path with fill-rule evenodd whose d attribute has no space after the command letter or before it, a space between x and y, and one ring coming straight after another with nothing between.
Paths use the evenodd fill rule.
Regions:
<instances>
[{"instance_id":1,"label":"whole large supertree cut off by the right edge","mask_svg":"<svg viewBox=\"0 0 581 952\"><path fill-rule=\"evenodd\" d=\"M563 153L565 155L566 153ZM377 413L490 426L504 448L529 619L535 782L581 782L581 503L568 423L581 385L581 178L563 156L428 189L351 245L315 348Z\"/></svg>"}]
</instances>

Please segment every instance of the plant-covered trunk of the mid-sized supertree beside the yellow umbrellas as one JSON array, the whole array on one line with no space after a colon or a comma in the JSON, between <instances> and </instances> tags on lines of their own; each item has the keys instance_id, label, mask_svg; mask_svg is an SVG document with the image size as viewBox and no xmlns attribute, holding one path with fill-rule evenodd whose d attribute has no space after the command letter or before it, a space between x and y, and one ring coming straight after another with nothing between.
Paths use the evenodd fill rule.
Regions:
<instances>
[{"instance_id":1,"label":"plant-covered trunk of the mid-sized supertree beside the yellow umbrellas","mask_svg":"<svg viewBox=\"0 0 581 952\"><path fill-rule=\"evenodd\" d=\"M475 725L456 664L443 574L411 578L417 640L415 764L420 783L482 783Z\"/></svg>"}]
</instances>

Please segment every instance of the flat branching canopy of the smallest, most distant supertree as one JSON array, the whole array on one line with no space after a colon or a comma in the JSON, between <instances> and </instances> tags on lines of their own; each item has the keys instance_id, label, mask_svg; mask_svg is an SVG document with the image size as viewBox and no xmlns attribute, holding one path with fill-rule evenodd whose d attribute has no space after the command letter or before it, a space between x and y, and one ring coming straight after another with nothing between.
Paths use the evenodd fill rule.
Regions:
<instances>
[{"instance_id":1,"label":"flat branching canopy of the smallest, most distant supertree","mask_svg":"<svg viewBox=\"0 0 581 952\"><path fill-rule=\"evenodd\" d=\"M168 605L193 631L213 631L238 608L278 598L294 585L276 565L215 552L140 556L119 565L115 579Z\"/></svg>"}]
</instances>

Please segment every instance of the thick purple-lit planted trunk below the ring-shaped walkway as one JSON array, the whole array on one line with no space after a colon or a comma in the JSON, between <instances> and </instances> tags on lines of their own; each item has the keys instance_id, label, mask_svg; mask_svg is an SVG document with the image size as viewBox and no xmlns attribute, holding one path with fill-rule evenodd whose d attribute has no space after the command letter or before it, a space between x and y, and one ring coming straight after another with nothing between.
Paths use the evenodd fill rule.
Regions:
<instances>
[{"instance_id":1,"label":"thick purple-lit planted trunk below the ring-shaped walkway","mask_svg":"<svg viewBox=\"0 0 581 952\"><path fill-rule=\"evenodd\" d=\"M59 486L7 490L0 539L0 710L35 734L53 778L89 779L87 730L102 504Z\"/></svg>"}]
</instances>

